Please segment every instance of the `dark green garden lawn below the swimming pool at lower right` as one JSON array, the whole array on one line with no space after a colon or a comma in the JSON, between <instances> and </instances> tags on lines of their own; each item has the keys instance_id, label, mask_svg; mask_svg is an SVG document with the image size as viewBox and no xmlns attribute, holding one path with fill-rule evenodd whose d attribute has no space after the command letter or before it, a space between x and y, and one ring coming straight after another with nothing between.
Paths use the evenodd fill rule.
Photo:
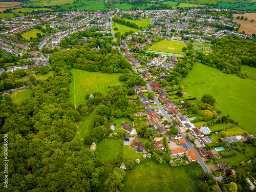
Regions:
<instances>
[{"instance_id":1,"label":"dark green garden lawn below the swimming pool at lower right","mask_svg":"<svg viewBox=\"0 0 256 192\"><path fill-rule=\"evenodd\" d=\"M246 146L242 146L242 148L246 148L245 150L245 154L243 154L243 152L237 152L236 156L232 156L232 157L227 157L227 158L222 158L217 160L218 162L220 161L224 161L227 162L228 165L230 167L239 164L241 161L248 161L250 160L250 156L253 156L255 154L255 147L253 146L249 146L248 144L246 144ZM210 161L207 164L215 164L214 161Z\"/></svg>"}]
</instances>

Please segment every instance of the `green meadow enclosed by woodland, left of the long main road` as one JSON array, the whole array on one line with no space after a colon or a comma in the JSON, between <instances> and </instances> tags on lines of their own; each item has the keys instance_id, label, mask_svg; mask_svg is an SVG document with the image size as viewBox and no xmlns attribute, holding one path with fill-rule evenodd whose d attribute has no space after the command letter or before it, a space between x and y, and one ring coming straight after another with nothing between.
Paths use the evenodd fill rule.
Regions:
<instances>
[{"instance_id":1,"label":"green meadow enclosed by woodland, left of the long main road","mask_svg":"<svg viewBox=\"0 0 256 192\"><path fill-rule=\"evenodd\" d=\"M84 103L85 96L88 93L101 92L105 94L108 92L108 86L123 86L124 82L119 81L120 73L101 73L89 72L81 69L71 70L72 82L69 84L72 96L70 101L78 106Z\"/></svg>"}]
</instances>

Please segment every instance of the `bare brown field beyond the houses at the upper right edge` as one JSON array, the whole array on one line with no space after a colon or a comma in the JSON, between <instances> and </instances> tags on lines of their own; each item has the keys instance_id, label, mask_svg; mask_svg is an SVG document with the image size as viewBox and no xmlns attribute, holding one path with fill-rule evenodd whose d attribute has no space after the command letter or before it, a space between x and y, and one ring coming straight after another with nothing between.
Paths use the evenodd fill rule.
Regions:
<instances>
[{"instance_id":1,"label":"bare brown field beyond the houses at the upper right edge","mask_svg":"<svg viewBox=\"0 0 256 192\"><path fill-rule=\"evenodd\" d=\"M244 31L245 34L251 35L252 33L256 34L256 13L245 13L243 15L241 14L234 14L234 20L236 20L236 22L238 24L241 24L241 27L239 29L240 32ZM237 16L244 16L248 18L248 20L241 20L241 19L236 19ZM250 22L251 19L254 19L254 22Z\"/></svg>"}]
</instances>

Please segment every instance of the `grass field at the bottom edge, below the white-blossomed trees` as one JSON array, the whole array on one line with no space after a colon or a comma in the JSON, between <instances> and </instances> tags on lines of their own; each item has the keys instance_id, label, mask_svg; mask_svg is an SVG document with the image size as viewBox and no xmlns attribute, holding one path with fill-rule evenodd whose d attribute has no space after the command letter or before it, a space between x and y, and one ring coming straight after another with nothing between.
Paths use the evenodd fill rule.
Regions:
<instances>
[{"instance_id":1,"label":"grass field at the bottom edge, below the white-blossomed trees","mask_svg":"<svg viewBox=\"0 0 256 192\"><path fill-rule=\"evenodd\" d=\"M126 170L121 192L135 191L200 191L196 174L203 171L198 163L172 167L146 160ZM184 182L186 184L184 184Z\"/></svg>"}]
</instances>

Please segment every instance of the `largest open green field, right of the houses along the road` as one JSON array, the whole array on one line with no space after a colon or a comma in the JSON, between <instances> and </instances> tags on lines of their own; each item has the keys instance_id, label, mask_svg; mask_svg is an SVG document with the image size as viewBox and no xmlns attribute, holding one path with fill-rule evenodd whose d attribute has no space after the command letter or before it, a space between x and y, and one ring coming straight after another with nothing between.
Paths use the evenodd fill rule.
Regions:
<instances>
[{"instance_id":1,"label":"largest open green field, right of the houses along the road","mask_svg":"<svg viewBox=\"0 0 256 192\"><path fill-rule=\"evenodd\" d=\"M199 100L205 93L214 96L215 110L221 110L222 115L229 115L245 130L256 135L255 80L225 74L216 68L196 62L193 70L181 80L180 86L184 86L186 92Z\"/></svg>"}]
</instances>

